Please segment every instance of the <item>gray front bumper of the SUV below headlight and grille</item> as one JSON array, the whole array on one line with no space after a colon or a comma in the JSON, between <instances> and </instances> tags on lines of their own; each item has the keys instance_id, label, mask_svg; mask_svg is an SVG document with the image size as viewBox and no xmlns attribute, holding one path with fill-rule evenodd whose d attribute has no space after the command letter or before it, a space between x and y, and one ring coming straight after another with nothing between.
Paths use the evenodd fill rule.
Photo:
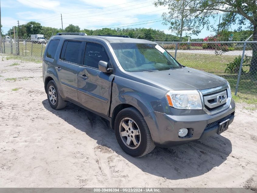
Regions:
<instances>
[{"instance_id":1,"label":"gray front bumper of the SUV below headlight and grille","mask_svg":"<svg viewBox=\"0 0 257 193\"><path fill-rule=\"evenodd\" d=\"M230 119L229 124L233 122L234 112L235 103L232 99L228 109L215 115L208 115L203 110L176 109L171 114L154 111L145 116L144 119L148 124L155 145L168 148L216 134L219 123L224 119ZM183 138L178 136L181 128L190 128L189 134Z\"/></svg>"}]
</instances>

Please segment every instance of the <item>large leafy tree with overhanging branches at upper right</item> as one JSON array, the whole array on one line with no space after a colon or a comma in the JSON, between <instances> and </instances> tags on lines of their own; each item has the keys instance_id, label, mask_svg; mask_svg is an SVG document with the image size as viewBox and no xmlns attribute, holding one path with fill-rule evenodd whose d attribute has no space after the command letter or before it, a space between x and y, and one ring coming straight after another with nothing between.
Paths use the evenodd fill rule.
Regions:
<instances>
[{"instance_id":1,"label":"large leafy tree with overhanging branches at upper right","mask_svg":"<svg viewBox=\"0 0 257 193\"><path fill-rule=\"evenodd\" d=\"M249 28L253 29L253 40L257 41L257 1L256 0L157 0L155 6L168 5L168 14L163 14L165 24L170 24L170 29L183 29L198 35L200 31L207 27L214 31L217 29L229 29L232 24L238 24L238 30L242 25L249 23ZM210 18L215 14L223 12L220 25L212 26ZM182 14L183 13L183 14ZM184 17L183 25L176 23L176 20ZM253 46L253 57L250 72L257 72L257 46Z\"/></svg>"}]
</instances>

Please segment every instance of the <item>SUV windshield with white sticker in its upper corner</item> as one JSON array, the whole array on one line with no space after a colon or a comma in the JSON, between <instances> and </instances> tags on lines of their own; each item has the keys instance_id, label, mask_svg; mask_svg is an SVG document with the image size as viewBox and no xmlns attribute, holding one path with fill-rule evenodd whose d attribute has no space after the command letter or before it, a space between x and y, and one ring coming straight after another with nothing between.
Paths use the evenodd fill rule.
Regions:
<instances>
[{"instance_id":1,"label":"SUV windshield with white sticker in its upper corner","mask_svg":"<svg viewBox=\"0 0 257 193\"><path fill-rule=\"evenodd\" d=\"M120 65L128 72L181 68L179 63L157 44L112 43L111 46Z\"/></svg>"}]
</instances>

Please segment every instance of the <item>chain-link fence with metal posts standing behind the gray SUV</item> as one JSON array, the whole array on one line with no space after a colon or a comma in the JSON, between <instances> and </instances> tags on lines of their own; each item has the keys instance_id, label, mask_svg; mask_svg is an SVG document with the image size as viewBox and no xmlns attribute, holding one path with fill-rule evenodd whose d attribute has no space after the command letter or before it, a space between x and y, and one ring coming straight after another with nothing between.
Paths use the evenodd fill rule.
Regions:
<instances>
[{"instance_id":1,"label":"chain-link fence with metal posts standing behind the gray SUV","mask_svg":"<svg viewBox=\"0 0 257 193\"><path fill-rule=\"evenodd\" d=\"M45 37L43 41L31 40L30 37L3 41L3 52L41 61L49 38ZM240 92L246 97L255 97L257 101L257 41L157 43L182 65L224 77L235 95Z\"/></svg>"}]
</instances>

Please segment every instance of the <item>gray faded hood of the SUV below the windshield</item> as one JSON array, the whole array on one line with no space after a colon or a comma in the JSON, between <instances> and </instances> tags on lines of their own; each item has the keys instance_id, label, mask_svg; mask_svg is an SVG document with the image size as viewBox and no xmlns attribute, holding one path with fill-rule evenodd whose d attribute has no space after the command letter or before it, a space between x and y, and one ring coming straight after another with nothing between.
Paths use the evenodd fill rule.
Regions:
<instances>
[{"instance_id":1,"label":"gray faded hood of the SUV below the windshield","mask_svg":"<svg viewBox=\"0 0 257 193\"><path fill-rule=\"evenodd\" d=\"M162 84L173 90L203 90L227 83L222 77L187 67L133 74L137 78L147 80L153 84Z\"/></svg>"}]
</instances>

